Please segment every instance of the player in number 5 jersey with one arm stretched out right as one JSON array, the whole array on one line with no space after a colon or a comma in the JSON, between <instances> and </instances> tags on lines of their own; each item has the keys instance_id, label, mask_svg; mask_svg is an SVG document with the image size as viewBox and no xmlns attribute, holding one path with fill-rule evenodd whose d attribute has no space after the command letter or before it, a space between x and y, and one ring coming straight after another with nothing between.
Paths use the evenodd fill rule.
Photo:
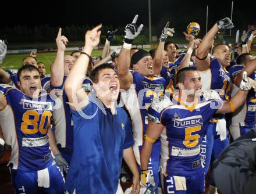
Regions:
<instances>
[{"instance_id":1,"label":"player in number 5 jersey with one arm stretched out right","mask_svg":"<svg viewBox=\"0 0 256 194\"><path fill-rule=\"evenodd\" d=\"M149 123L141 150L141 182L154 185L148 161L152 146L161 135L159 168L164 193L203 193L202 138L215 113L233 112L244 103L247 89L251 87L246 81L229 102L223 102L212 90L203 91L201 96L201 77L197 70L191 67L179 70L176 80L179 92L173 94L173 100L166 96L154 98L148 109ZM250 81L255 87L255 82Z\"/></svg>"}]
</instances>

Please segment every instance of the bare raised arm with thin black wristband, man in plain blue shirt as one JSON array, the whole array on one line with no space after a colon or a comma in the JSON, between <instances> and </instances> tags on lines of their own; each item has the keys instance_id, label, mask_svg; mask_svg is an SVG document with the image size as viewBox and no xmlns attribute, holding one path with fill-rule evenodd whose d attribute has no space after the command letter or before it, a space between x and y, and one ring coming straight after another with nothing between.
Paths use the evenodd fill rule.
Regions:
<instances>
[{"instance_id":1,"label":"bare raised arm with thin black wristband, man in plain blue shirt","mask_svg":"<svg viewBox=\"0 0 256 194\"><path fill-rule=\"evenodd\" d=\"M87 73L88 63L90 60L89 56L91 55L94 46L99 44L99 36L101 35L101 31L99 30L100 28L101 24L93 28L93 30L87 31L84 49L76 60L76 63L74 63L74 66L70 70L65 81L65 92L69 102L71 103L70 106L73 109L75 109L75 103L84 102L82 107L86 107L88 105L87 94L82 88L82 84Z\"/></svg>"}]
</instances>

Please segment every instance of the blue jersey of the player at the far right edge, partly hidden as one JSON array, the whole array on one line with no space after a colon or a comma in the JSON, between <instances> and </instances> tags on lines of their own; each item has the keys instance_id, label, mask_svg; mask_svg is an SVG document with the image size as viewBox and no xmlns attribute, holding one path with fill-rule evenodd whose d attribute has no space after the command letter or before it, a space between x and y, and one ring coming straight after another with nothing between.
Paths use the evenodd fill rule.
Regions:
<instances>
[{"instance_id":1,"label":"blue jersey of the player at the far right edge, partly hidden","mask_svg":"<svg viewBox=\"0 0 256 194\"><path fill-rule=\"evenodd\" d=\"M229 72L231 74L233 81L236 78L236 76L240 74L242 69L244 69L244 66L240 64L236 64L229 69ZM250 78L253 80L256 80L255 73L251 74ZM252 88L248 92L247 99L246 99L246 113L244 113L243 115L243 118L244 118L243 123L248 128L255 127L255 111L256 111L256 90Z\"/></svg>"}]
</instances>

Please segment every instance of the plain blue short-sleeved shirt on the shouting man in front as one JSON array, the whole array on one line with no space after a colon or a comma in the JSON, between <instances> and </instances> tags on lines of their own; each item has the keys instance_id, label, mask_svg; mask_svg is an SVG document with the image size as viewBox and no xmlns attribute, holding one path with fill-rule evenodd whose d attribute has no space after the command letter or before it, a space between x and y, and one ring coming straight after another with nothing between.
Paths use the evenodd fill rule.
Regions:
<instances>
[{"instance_id":1,"label":"plain blue short-sleeved shirt on the shouting man in front","mask_svg":"<svg viewBox=\"0 0 256 194\"><path fill-rule=\"evenodd\" d=\"M134 143L126 111L116 107L112 114L100 100L95 101L98 105L90 102L80 112L72 110L74 151L66 177L69 193L74 189L76 193L116 193L123 149Z\"/></svg>"}]
</instances>

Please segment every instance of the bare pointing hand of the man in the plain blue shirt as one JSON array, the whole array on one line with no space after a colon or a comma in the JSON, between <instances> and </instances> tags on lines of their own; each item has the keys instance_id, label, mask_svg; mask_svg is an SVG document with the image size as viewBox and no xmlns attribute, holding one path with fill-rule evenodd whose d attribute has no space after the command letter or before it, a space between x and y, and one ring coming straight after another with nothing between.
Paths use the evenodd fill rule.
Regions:
<instances>
[{"instance_id":1,"label":"bare pointing hand of the man in the plain blue shirt","mask_svg":"<svg viewBox=\"0 0 256 194\"><path fill-rule=\"evenodd\" d=\"M86 45L84 47L89 46L90 48L94 48L99 44L99 37L101 35L101 24L94 27L92 30L88 30L86 32Z\"/></svg>"}]
</instances>

